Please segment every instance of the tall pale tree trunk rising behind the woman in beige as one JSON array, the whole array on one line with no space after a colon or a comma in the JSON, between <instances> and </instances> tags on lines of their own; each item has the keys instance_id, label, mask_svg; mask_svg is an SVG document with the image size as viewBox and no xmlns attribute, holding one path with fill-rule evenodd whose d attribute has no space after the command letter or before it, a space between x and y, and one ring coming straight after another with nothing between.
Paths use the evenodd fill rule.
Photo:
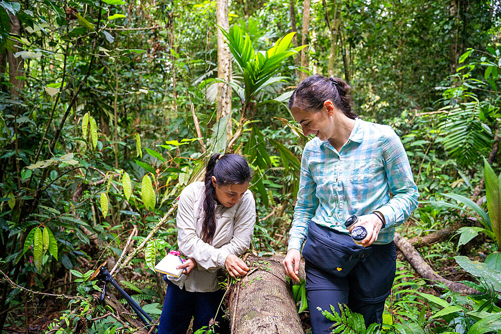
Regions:
<instances>
[{"instance_id":1,"label":"tall pale tree trunk rising behind the woman in beige","mask_svg":"<svg viewBox=\"0 0 501 334\"><path fill-rule=\"evenodd\" d=\"M219 27L228 31L228 0L217 0L216 20ZM217 78L224 83L217 84L217 120L224 115L231 115L231 86L227 83L231 79L231 53L223 40L223 35L217 29ZM231 139L231 117L226 126L226 138Z\"/></svg>"}]
</instances>

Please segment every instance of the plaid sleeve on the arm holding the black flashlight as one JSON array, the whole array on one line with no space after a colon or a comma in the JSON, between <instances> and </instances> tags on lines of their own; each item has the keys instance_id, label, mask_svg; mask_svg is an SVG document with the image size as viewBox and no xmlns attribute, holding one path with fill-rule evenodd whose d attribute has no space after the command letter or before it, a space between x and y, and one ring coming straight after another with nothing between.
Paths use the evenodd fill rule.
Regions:
<instances>
[{"instance_id":1,"label":"plaid sleeve on the arm holding the black flashlight","mask_svg":"<svg viewBox=\"0 0 501 334\"><path fill-rule=\"evenodd\" d=\"M402 142L391 128L385 135L382 150L393 198L378 210L384 215L385 228L388 228L402 224L410 216L417 207L419 192Z\"/></svg>"}]
</instances>

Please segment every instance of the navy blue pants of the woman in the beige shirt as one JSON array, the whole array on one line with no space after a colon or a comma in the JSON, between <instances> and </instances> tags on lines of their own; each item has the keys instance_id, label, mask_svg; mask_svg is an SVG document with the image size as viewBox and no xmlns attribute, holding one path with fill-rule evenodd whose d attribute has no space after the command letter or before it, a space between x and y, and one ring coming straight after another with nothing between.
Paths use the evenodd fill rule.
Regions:
<instances>
[{"instance_id":1,"label":"navy blue pants of the woman in the beige shirt","mask_svg":"<svg viewBox=\"0 0 501 334\"><path fill-rule=\"evenodd\" d=\"M193 317L193 332L203 326L216 315L217 307L224 295L224 290L214 292L189 292L183 287L169 283L163 302L158 334L186 334L191 317ZM216 321L221 320L224 312L219 310ZM224 332L216 329L216 332Z\"/></svg>"}]
</instances>

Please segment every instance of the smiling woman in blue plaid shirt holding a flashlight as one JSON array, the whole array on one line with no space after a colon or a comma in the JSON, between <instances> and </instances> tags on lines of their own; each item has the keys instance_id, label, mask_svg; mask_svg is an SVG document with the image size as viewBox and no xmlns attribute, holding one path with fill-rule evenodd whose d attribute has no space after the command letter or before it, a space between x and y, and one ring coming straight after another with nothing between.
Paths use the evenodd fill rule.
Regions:
<instances>
[{"instance_id":1,"label":"smiling woman in blue plaid shirt holding a flashlight","mask_svg":"<svg viewBox=\"0 0 501 334\"><path fill-rule=\"evenodd\" d=\"M290 230L286 273L295 281L306 260L306 290L313 333L332 321L317 307L338 303L382 323L384 301L395 277L395 226L417 207L419 193L404 147L393 129L362 121L351 110L350 87L339 78L311 76L289 101L306 136L298 200ZM348 229L345 220L359 220ZM363 226L356 245L350 232ZM305 242L306 240L306 242Z\"/></svg>"}]
</instances>

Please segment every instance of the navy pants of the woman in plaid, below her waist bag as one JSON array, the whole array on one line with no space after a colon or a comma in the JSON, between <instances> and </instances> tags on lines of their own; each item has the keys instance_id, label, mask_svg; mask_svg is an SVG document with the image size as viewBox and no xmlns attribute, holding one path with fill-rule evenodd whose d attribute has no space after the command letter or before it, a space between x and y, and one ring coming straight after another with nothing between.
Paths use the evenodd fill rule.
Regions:
<instances>
[{"instance_id":1,"label":"navy pants of the woman in plaid, below her waist bag","mask_svg":"<svg viewBox=\"0 0 501 334\"><path fill-rule=\"evenodd\" d=\"M395 278L396 251L392 242L372 245L370 255L360 259L345 277L334 276L306 261L306 295L313 334L330 333L333 322L317 309L339 312L338 302L364 316L365 325L383 321L384 301ZM326 259L328 260L328 259Z\"/></svg>"}]
</instances>

